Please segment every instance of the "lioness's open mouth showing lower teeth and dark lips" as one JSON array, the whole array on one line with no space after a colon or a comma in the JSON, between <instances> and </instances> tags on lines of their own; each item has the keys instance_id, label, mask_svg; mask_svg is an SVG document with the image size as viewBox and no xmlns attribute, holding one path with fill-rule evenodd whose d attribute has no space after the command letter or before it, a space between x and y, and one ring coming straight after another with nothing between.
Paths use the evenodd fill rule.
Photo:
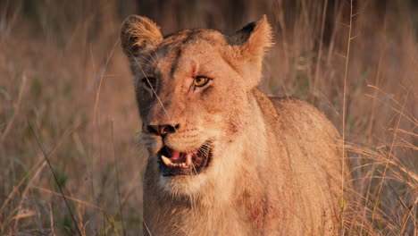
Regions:
<instances>
[{"instance_id":1,"label":"lioness's open mouth showing lower teeth and dark lips","mask_svg":"<svg viewBox=\"0 0 418 236\"><path fill-rule=\"evenodd\" d=\"M192 175L201 173L209 164L211 156L212 148L209 143L188 153L163 147L158 152L158 162L163 176Z\"/></svg>"}]
</instances>

